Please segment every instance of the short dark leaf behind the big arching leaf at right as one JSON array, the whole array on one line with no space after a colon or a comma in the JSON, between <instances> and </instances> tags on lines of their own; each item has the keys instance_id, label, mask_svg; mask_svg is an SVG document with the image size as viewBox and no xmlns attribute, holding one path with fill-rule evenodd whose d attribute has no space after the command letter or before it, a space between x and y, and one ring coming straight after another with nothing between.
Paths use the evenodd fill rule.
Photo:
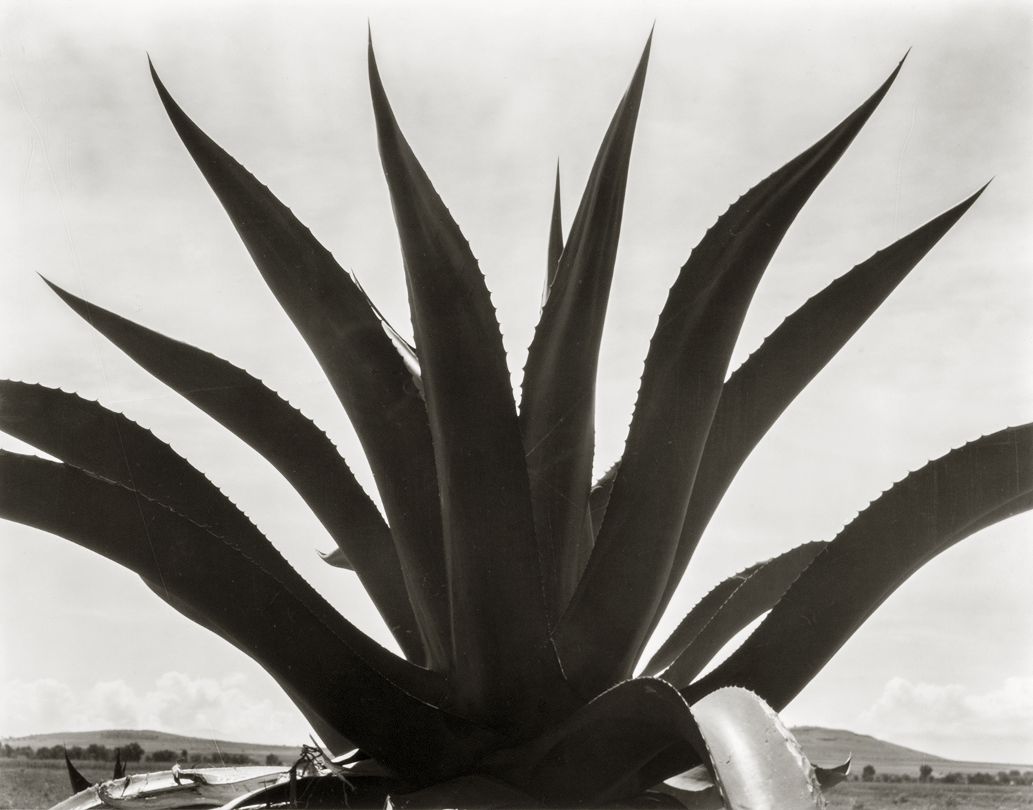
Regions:
<instances>
[{"instance_id":1,"label":"short dark leaf behind the big arching leaf at right","mask_svg":"<svg viewBox=\"0 0 1033 810\"><path fill-rule=\"evenodd\" d=\"M663 679L677 689L688 686L737 633L775 607L801 572L827 545L805 543L755 566L695 638L685 645L664 671Z\"/></svg>"}]
</instances>

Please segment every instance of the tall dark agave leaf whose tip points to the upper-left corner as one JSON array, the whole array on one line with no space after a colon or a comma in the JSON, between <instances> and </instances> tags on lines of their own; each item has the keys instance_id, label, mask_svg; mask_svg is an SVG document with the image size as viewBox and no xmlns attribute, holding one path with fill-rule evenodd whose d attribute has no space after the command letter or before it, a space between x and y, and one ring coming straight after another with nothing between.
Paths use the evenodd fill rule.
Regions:
<instances>
[{"instance_id":1,"label":"tall dark agave leaf whose tip points to the upper-left corner","mask_svg":"<svg viewBox=\"0 0 1033 810\"><path fill-rule=\"evenodd\" d=\"M358 434L424 630L428 666L447 669L451 640L434 452L412 374L366 294L330 251L187 118L153 66L151 75L173 126Z\"/></svg>"}]
</instances>

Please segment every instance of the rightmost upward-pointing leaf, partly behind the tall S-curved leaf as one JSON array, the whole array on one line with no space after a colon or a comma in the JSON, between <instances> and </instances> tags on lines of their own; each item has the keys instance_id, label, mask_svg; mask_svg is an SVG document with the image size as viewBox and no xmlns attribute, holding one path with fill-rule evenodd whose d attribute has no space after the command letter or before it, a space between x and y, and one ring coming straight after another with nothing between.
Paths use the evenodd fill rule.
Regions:
<instances>
[{"instance_id":1,"label":"rightmost upward-pointing leaf, partly behind the tall S-curved leaf","mask_svg":"<svg viewBox=\"0 0 1033 810\"><path fill-rule=\"evenodd\" d=\"M714 510L753 448L983 189L834 281L786 318L731 375L721 391L699 459L653 627L670 603Z\"/></svg>"}]
</instances>

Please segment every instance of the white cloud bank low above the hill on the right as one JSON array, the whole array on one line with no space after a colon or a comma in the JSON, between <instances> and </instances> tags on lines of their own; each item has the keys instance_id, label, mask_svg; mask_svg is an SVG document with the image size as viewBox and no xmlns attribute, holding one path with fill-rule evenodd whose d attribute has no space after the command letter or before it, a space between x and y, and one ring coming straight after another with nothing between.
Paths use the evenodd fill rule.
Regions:
<instances>
[{"instance_id":1,"label":"white cloud bank low above the hill on the right","mask_svg":"<svg viewBox=\"0 0 1033 810\"><path fill-rule=\"evenodd\" d=\"M1007 678L983 694L894 678L860 724L875 737L950 758L1033 763L1033 678Z\"/></svg>"}]
</instances>

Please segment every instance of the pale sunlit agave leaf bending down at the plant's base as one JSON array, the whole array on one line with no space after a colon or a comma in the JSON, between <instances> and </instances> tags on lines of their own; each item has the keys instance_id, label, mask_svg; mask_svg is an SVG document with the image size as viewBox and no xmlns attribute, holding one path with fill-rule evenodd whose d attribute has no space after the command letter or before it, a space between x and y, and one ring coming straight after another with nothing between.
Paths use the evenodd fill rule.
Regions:
<instances>
[{"instance_id":1,"label":"pale sunlit agave leaf bending down at the plant's base","mask_svg":"<svg viewBox=\"0 0 1033 810\"><path fill-rule=\"evenodd\" d=\"M814 768L779 717L747 689L726 688L692 707L729 810L824 808Z\"/></svg>"}]
</instances>

